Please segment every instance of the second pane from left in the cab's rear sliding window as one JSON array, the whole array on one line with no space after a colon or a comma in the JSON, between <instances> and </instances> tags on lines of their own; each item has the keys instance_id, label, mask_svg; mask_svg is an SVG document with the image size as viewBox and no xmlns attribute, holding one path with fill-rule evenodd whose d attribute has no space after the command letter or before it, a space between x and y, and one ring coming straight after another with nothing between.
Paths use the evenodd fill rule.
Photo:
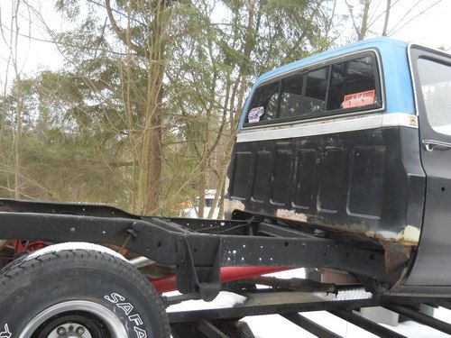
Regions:
<instances>
[{"instance_id":1,"label":"second pane from left in the cab's rear sliding window","mask_svg":"<svg viewBox=\"0 0 451 338\"><path fill-rule=\"evenodd\" d=\"M297 75L281 80L281 106L279 117L292 117L300 114L302 104L302 76Z\"/></svg>"}]
</instances>

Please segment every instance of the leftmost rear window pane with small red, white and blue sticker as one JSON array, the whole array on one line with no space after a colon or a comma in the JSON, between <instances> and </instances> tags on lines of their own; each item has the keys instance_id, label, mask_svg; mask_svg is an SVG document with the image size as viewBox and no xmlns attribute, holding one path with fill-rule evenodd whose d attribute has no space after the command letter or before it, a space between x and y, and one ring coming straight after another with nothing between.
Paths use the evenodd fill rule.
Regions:
<instances>
[{"instance_id":1,"label":"leftmost rear window pane with small red, white and blue sticker","mask_svg":"<svg viewBox=\"0 0 451 338\"><path fill-rule=\"evenodd\" d=\"M270 121L276 118L279 86L280 81L276 81L255 90L249 112L247 112L248 123Z\"/></svg>"}]
</instances>

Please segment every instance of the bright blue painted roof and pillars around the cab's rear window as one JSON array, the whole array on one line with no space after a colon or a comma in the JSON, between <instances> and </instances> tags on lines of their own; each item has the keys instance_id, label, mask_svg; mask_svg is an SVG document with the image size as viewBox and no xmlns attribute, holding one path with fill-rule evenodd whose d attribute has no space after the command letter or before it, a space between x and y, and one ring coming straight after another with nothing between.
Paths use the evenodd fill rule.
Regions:
<instances>
[{"instance_id":1,"label":"bright blue painted roof and pillars around the cab's rear window","mask_svg":"<svg viewBox=\"0 0 451 338\"><path fill-rule=\"evenodd\" d=\"M385 89L386 103L385 113L415 114L413 87L407 53L408 43L381 37L358 41L334 50L327 50L262 74L262 76L255 81L251 93L246 100L239 128L241 129L243 127L248 105L250 105L255 87L258 87L262 82L292 70L308 67L308 65L320 61L326 61L327 59L352 53L354 51L369 49L378 50L382 59L382 79L384 82L383 86Z\"/></svg>"}]
</instances>

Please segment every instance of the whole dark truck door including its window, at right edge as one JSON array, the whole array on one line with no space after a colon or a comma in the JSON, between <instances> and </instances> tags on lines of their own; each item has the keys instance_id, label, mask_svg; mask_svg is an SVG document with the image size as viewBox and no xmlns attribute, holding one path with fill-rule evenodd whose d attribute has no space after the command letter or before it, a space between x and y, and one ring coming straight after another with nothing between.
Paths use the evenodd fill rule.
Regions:
<instances>
[{"instance_id":1,"label":"whole dark truck door including its window, at right edge","mask_svg":"<svg viewBox=\"0 0 451 338\"><path fill-rule=\"evenodd\" d=\"M426 203L419 251L407 284L451 285L451 57L412 46ZM420 207L420 206L419 206Z\"/></svg>"}]
</instances>

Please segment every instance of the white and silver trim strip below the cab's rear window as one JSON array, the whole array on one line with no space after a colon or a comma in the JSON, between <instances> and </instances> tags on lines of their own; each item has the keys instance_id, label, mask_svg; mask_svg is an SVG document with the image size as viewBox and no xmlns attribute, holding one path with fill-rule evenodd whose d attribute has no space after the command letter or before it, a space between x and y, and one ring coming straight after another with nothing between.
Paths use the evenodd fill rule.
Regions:
<instances>
[{"instance_id":1,"label":"white and silver trim strip below the cab's rear window","mask_svg":"<svg viewBox=\"0 0 451 338\"><path fill-rule=\"evenodd\" d=\"M335 132L353 132L366 129L376 129L383 127L410 127L418 128L418 117L406 113L391 114L365 114L335 120L320 122L293 123L291 125L274 125L267 128L243 130L238 132L236 142L257 142L266 140L281 140L295 137L305 137L321 135Z\"/></svg>"}]
</instances>

